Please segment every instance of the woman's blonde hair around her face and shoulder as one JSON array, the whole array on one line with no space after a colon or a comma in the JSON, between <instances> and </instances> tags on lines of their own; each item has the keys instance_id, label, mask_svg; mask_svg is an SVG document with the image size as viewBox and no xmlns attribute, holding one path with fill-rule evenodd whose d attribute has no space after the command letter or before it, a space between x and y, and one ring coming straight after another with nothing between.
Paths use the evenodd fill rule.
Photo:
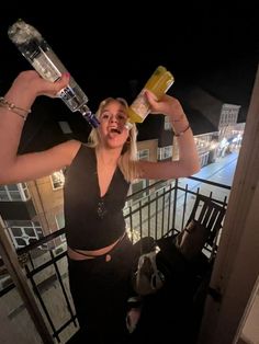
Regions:
<instances>
[{"instance_id":1,"label":"woman's blonde hair around her face and shoulder","mask_svg":"<svg viewBox=\"0 0 259 344\"><path fill-rule=\"evenodd\" d=\"M97 118L100 117L103 107L111 102L119 102L126 108L126 111L128 108L128 104L123 98L106 98L100 103L98 107L98 111L95 113ZM88 146L94 148L98 147L99 145L100 145L99 133L95 128L92 128L88 137ZM128 130L128 139L124 144L122 154L119 159L119 167L127 182L132 182L133 180L138 177L139 173L137 171L136 160L137 160L137 128L136 125L133 124L132 128Z\"/></svg>"}]
</instances>

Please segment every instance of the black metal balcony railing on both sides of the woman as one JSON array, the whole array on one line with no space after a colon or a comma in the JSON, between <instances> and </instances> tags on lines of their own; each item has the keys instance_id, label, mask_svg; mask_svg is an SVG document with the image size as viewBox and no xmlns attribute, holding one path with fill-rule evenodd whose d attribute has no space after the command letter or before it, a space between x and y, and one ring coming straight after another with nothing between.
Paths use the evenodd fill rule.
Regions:
<instances>
[{"instance_id":1,"label":"black metal balcony railing on both sides of the woman","mask_svg":"<svg viewBox=\"0 0 259 344\"><path fill-rule=\"evenodd\" d=\"M145 236L159 239L171 230L181 230L196 194L204 194L226 206L229 192L230 186L193 176L154 183L145 188L146 196L143 198L135 200L144 190L127 197L124 217L130 237L135 242ZM60 229L16 251L18 256L27 257L21 268L48 331L57 343L66 343L79 328L69 291L66 243L58 248L49 244L64 233L65 229ZM41 248L46 243L54 249L43 251ZM0 290L0 299L14 288L10 280Z\"/></svg>"}]
</instances>

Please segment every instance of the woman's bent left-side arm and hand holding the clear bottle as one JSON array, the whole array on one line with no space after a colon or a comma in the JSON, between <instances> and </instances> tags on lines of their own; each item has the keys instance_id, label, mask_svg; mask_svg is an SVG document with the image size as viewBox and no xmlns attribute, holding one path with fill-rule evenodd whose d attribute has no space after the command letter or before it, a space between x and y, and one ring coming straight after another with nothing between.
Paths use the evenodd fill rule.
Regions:
<instances>
[{"instance_id":1,"label":"woman's bent left-side arm and hand holding the clear bottle","mask_svg":"<svg viewBox=\"0 0 259 344\"><path fill-rule=\"evenodd\" d=\"M69 164L79 142L68 141L43 152L18 156L19 142L27 114L38 95L55 98L67 85L69 74L53 83L34 70L21 72L0 100L0 184L41 177ZM32 114L33 115L33 114Z\"/></svg>"}]
</instances>

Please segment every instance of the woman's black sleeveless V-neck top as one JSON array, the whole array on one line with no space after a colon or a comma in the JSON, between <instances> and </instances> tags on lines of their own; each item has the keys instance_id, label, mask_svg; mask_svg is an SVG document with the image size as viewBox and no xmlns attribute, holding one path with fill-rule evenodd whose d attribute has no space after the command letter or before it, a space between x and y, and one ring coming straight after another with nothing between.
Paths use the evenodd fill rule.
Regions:
<instances>
[{"instance_id":1,"label":"woman's black sleeveless V-neck top","mask_svg":"<svg viewBox=\"0 0 259 344\"><path fill-rule=\"evenodd\" d=\"M94 148L81 145L66 171L64 208L67 244L98 250L115 242L125 231L123 207L130 183L116 168L106 194L100 196Z\"/></svg>"}]
</instances>

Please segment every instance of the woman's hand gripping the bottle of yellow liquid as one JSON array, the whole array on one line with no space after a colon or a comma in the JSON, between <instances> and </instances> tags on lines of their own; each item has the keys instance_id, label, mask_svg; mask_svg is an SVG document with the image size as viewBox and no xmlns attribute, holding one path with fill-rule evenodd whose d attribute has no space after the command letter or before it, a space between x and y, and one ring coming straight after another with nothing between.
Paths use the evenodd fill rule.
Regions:
<instances>
[{"instance_id":1,"label":"woman's hand gripping the bottle of yellow liquid","mask_svg":"<svg viewBox=\"0 0 259 344\"><path fill-rule=\"evenodd\" d=\"M183 113L180 102L173 96L164 94L158 101L156 95L148 90L145 91L145 95L150 105L151 114L164 114L172 117L179 117Z\"/></svg>"}]
</instances>

